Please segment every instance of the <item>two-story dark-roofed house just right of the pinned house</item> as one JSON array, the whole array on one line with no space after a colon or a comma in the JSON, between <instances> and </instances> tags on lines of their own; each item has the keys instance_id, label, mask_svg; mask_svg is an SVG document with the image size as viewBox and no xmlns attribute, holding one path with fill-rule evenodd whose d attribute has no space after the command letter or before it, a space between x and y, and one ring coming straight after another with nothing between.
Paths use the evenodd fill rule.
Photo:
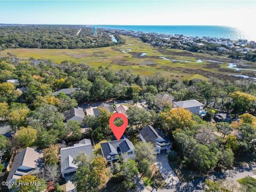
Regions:
<instances>
[{"instance_id":1,"label":"two-story dark-roofed house just right of the pinned house","mask_svg":"<svg viewBox=\"0 0 256 192\"><path fill-rule=\"evenodd\" d=\"M143 142L151 142L155 145L156 153L161 151L169 152L171 149L171 142L165 134L153 126L147 125L140 131L140 139Z\"/></svg>"}]
</instances>

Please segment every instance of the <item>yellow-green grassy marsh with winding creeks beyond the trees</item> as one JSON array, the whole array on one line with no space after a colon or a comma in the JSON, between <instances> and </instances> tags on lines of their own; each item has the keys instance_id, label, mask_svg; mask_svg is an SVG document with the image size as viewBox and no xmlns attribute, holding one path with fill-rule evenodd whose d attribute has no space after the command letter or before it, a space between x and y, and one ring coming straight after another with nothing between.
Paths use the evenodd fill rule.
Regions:
<instances>
[{"instance_id":1,"label":"yellow-green grassy marsh with winding creeks beyond the trees","mask_svg":"<svg viewBox=\"0 0 256 192\"><path fill-rule=\"evenodd\" d=\"M123 36L126 40L125 45L114 47L101 47L97 49L9 49L0 51L0 57L5 57L8 52L17 55L20 59L50 59L53 62L61 63L65 60L77 63L86 63L92 67L109 66L114 70L131 69L135 74L153 75L156 72L163 76L169 76L179 79L201 78L208 79L202 74L184 73L183 69L205 70L213 73L227 74L221 72L218 68L227 68L227 62L215 66L215 63L196 62L198 59L214 59L224 60L224 57L211 57L202 53L191 53L175 49L161 49L153 47L147 43L141 42L137 38ZM126 51L123 53L121 51ZM141 53L147 53L145 57L141 57ZM171 60L161 59L166 57ZM188 60L191 62L172 61L172 60ZM212 64L209 67L209 64ZM207 67L208 65L208 67ZM232 71L231 71L232 72Z\"/></svg>"}]
</instances>

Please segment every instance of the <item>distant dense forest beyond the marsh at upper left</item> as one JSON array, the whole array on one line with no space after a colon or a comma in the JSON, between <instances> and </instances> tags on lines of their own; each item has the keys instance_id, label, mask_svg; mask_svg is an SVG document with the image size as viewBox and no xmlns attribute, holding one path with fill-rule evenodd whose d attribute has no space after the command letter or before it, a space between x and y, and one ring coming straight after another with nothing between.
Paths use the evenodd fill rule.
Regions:
<instances>
[{"instance_id":1,"label":"distant dense forest beyond the marsh at upper left","mask_svg":"<svg viewBox=\"0 0 256 192\"><path fill-rule=\"evenodd\" d=\"M78 30L82 29L77 35ZM115 35L117 43L109 34L92 27L63 25L0 26L0 50L12 48L39 49L86 49L122 44L123 39Z\"/></svg>"}]
</instances>

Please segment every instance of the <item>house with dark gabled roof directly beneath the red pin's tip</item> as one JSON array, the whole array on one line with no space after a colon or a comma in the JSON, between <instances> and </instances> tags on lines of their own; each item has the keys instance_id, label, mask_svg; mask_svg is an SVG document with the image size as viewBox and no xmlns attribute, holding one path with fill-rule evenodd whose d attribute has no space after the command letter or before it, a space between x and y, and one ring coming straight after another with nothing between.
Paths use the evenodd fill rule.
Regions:
<instances>
[{"instance_id":1,"label":"house with dark gabled roof directly beneath the red pin's tip","mask_svg":"<svg viewBox=\"0 0 256 192\"><path fill-rule=\"evenodd\" d=\"M126 154L126 158L135 159L136 157L135 147L127 138L101 143L100 146L102 155L107 162L118 159L121 154Z\"/></svg>"}]
</instances>

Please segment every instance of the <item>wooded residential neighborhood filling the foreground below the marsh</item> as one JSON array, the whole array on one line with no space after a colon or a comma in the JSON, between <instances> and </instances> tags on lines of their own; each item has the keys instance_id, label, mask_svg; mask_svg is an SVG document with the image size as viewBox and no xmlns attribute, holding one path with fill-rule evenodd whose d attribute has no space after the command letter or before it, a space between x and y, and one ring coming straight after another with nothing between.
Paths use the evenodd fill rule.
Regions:
<instances>
[{"instance_id":1,"label":"wooded residential neighborhood filling the foreground below the marsh","mask_svg":"<svg viewBox=\"0 0 256 192\"><path fill-rule=\"evenodd\" d=\"M242 191L256 178L253 82L13 55L0 64L5 191ZM128 119L119 140L109 126L116 113Z\"/></svg>"}]
</instances>

